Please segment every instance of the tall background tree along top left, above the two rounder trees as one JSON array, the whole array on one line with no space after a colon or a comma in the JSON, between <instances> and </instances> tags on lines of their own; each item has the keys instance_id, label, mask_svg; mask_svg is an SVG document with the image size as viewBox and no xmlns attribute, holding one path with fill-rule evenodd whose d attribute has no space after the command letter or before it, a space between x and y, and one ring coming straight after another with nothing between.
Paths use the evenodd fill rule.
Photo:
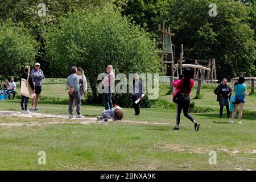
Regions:
<instances>
[{"instance_id":1,"label":"tall background tree along top left, above the two rounder trees","mask_svg":"<svg viewBox=\"0 0 256 182\"><path fill-rule=\"evenodd\" d=\"M125 4L126 0L5 0L0 1L0 18L3 20L11 19L14 23L22 22L24 26L31 30L39 43L36 61L41 64L41 68L46 75L52 75L48 71L49 63L45 59L44 34L47 34L49 27L59 23L60 17L65 17L69 12L79 9L94 11L97 7L102 9L119 9ZM46 16L39 16L42 13L44 3Z\"/></svg>"}]
</instances>

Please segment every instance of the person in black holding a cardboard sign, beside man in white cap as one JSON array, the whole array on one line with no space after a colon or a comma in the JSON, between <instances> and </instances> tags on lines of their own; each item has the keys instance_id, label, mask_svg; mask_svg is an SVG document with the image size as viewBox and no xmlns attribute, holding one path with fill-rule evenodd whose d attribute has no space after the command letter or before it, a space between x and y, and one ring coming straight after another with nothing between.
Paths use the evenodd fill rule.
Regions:
<instances>
[{"instance_id":1,"label":"person in black holding a cardboard sign, beside man in white cap","mask_svg":"<svg viewBox=\"0 0 256 182\"><path fill-rule=\"evenodd\" d=\"M28 84L30 85L33 92L35 93L35 85L34 85L34 82L32 81L31 76L29 75L29 69L30 67L28 66L24 68L24 73L22 74L22 76L20 76L20 87L22 85L22 78L23 78L24 80L28 81ZM30 99L29 97L22 95L22 100L20 102L20 106L22 107L22 111L21 111L22 114L30 113L30 111L27 110L27 104L29 99Z\"/></svg>"}]
</instances>

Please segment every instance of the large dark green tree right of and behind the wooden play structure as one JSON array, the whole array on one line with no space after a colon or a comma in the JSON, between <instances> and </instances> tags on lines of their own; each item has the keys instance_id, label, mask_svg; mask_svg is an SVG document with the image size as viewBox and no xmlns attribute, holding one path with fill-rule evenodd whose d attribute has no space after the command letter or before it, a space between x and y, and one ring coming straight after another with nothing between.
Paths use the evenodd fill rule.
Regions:
<instances>
[{"instance_id":1,"label":"large dark green tree right of and behind the wooden play structure","mask_svg":"<svg viewBox=\"0 0 256 182\"><path fill-rule=\"evenodd\" d=\"M163 11L174 44L184 44L185 57L216 59L218 79L255 73L254 31L250 24L250 7L233 0L215 1L217 16L209 16L208 0L175 0ZM178 50L179 51L179 50Z\"/></svg>"}]
</instances>

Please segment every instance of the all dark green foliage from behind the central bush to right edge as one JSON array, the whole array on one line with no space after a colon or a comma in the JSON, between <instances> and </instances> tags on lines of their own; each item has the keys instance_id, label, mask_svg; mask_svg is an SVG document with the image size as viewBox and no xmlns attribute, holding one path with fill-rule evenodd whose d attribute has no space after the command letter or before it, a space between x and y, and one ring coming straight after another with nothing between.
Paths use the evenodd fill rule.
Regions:
<instances>
[{"instance_id":1,"label":"all dark green foliage from behind the central bush to right edge","mask_svg":"<svg viewBox=\"0 0 256 182\"><path fill-rule=\"evenodd\" d=\"M165 19L175 33L176 53L184 44L185 57L216 59L218 79L255 75L256 1L217 0L217 16L210 17L210 0L131 0L123 9L134 21L155 32ZM254 39L254 40L253 40ZM225 66L224 66L225 65Z\"/></svg>"}]
</instances>

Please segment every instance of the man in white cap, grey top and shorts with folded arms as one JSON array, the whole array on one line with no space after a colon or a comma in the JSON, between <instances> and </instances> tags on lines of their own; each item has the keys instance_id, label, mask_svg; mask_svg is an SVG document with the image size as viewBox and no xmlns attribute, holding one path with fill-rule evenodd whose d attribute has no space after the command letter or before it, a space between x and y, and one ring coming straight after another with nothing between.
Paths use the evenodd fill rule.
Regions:
<instances>
[{"instance_id":1,"label":"man in white cap, grey top and shorts with folded arms","mask_svg":"<svg viewBox=\"0 0 256 182\"><path fill-rule=\"evenodd\" d=\"M32 77L32 81L35 83L36 97L35 97L35 99L32 98L32 101L31 101L32 104L31 104L31 109L30 110L38 111L39 95L42 91L42 85L43 85L42 80L45 78L44 74L43 74L43 71L40 69L40 64L39 63L36 63L35 68L31 70L31 77ZM33 109L34 100L35 100L35 109Z\"/></svg>"}]
</instances>

